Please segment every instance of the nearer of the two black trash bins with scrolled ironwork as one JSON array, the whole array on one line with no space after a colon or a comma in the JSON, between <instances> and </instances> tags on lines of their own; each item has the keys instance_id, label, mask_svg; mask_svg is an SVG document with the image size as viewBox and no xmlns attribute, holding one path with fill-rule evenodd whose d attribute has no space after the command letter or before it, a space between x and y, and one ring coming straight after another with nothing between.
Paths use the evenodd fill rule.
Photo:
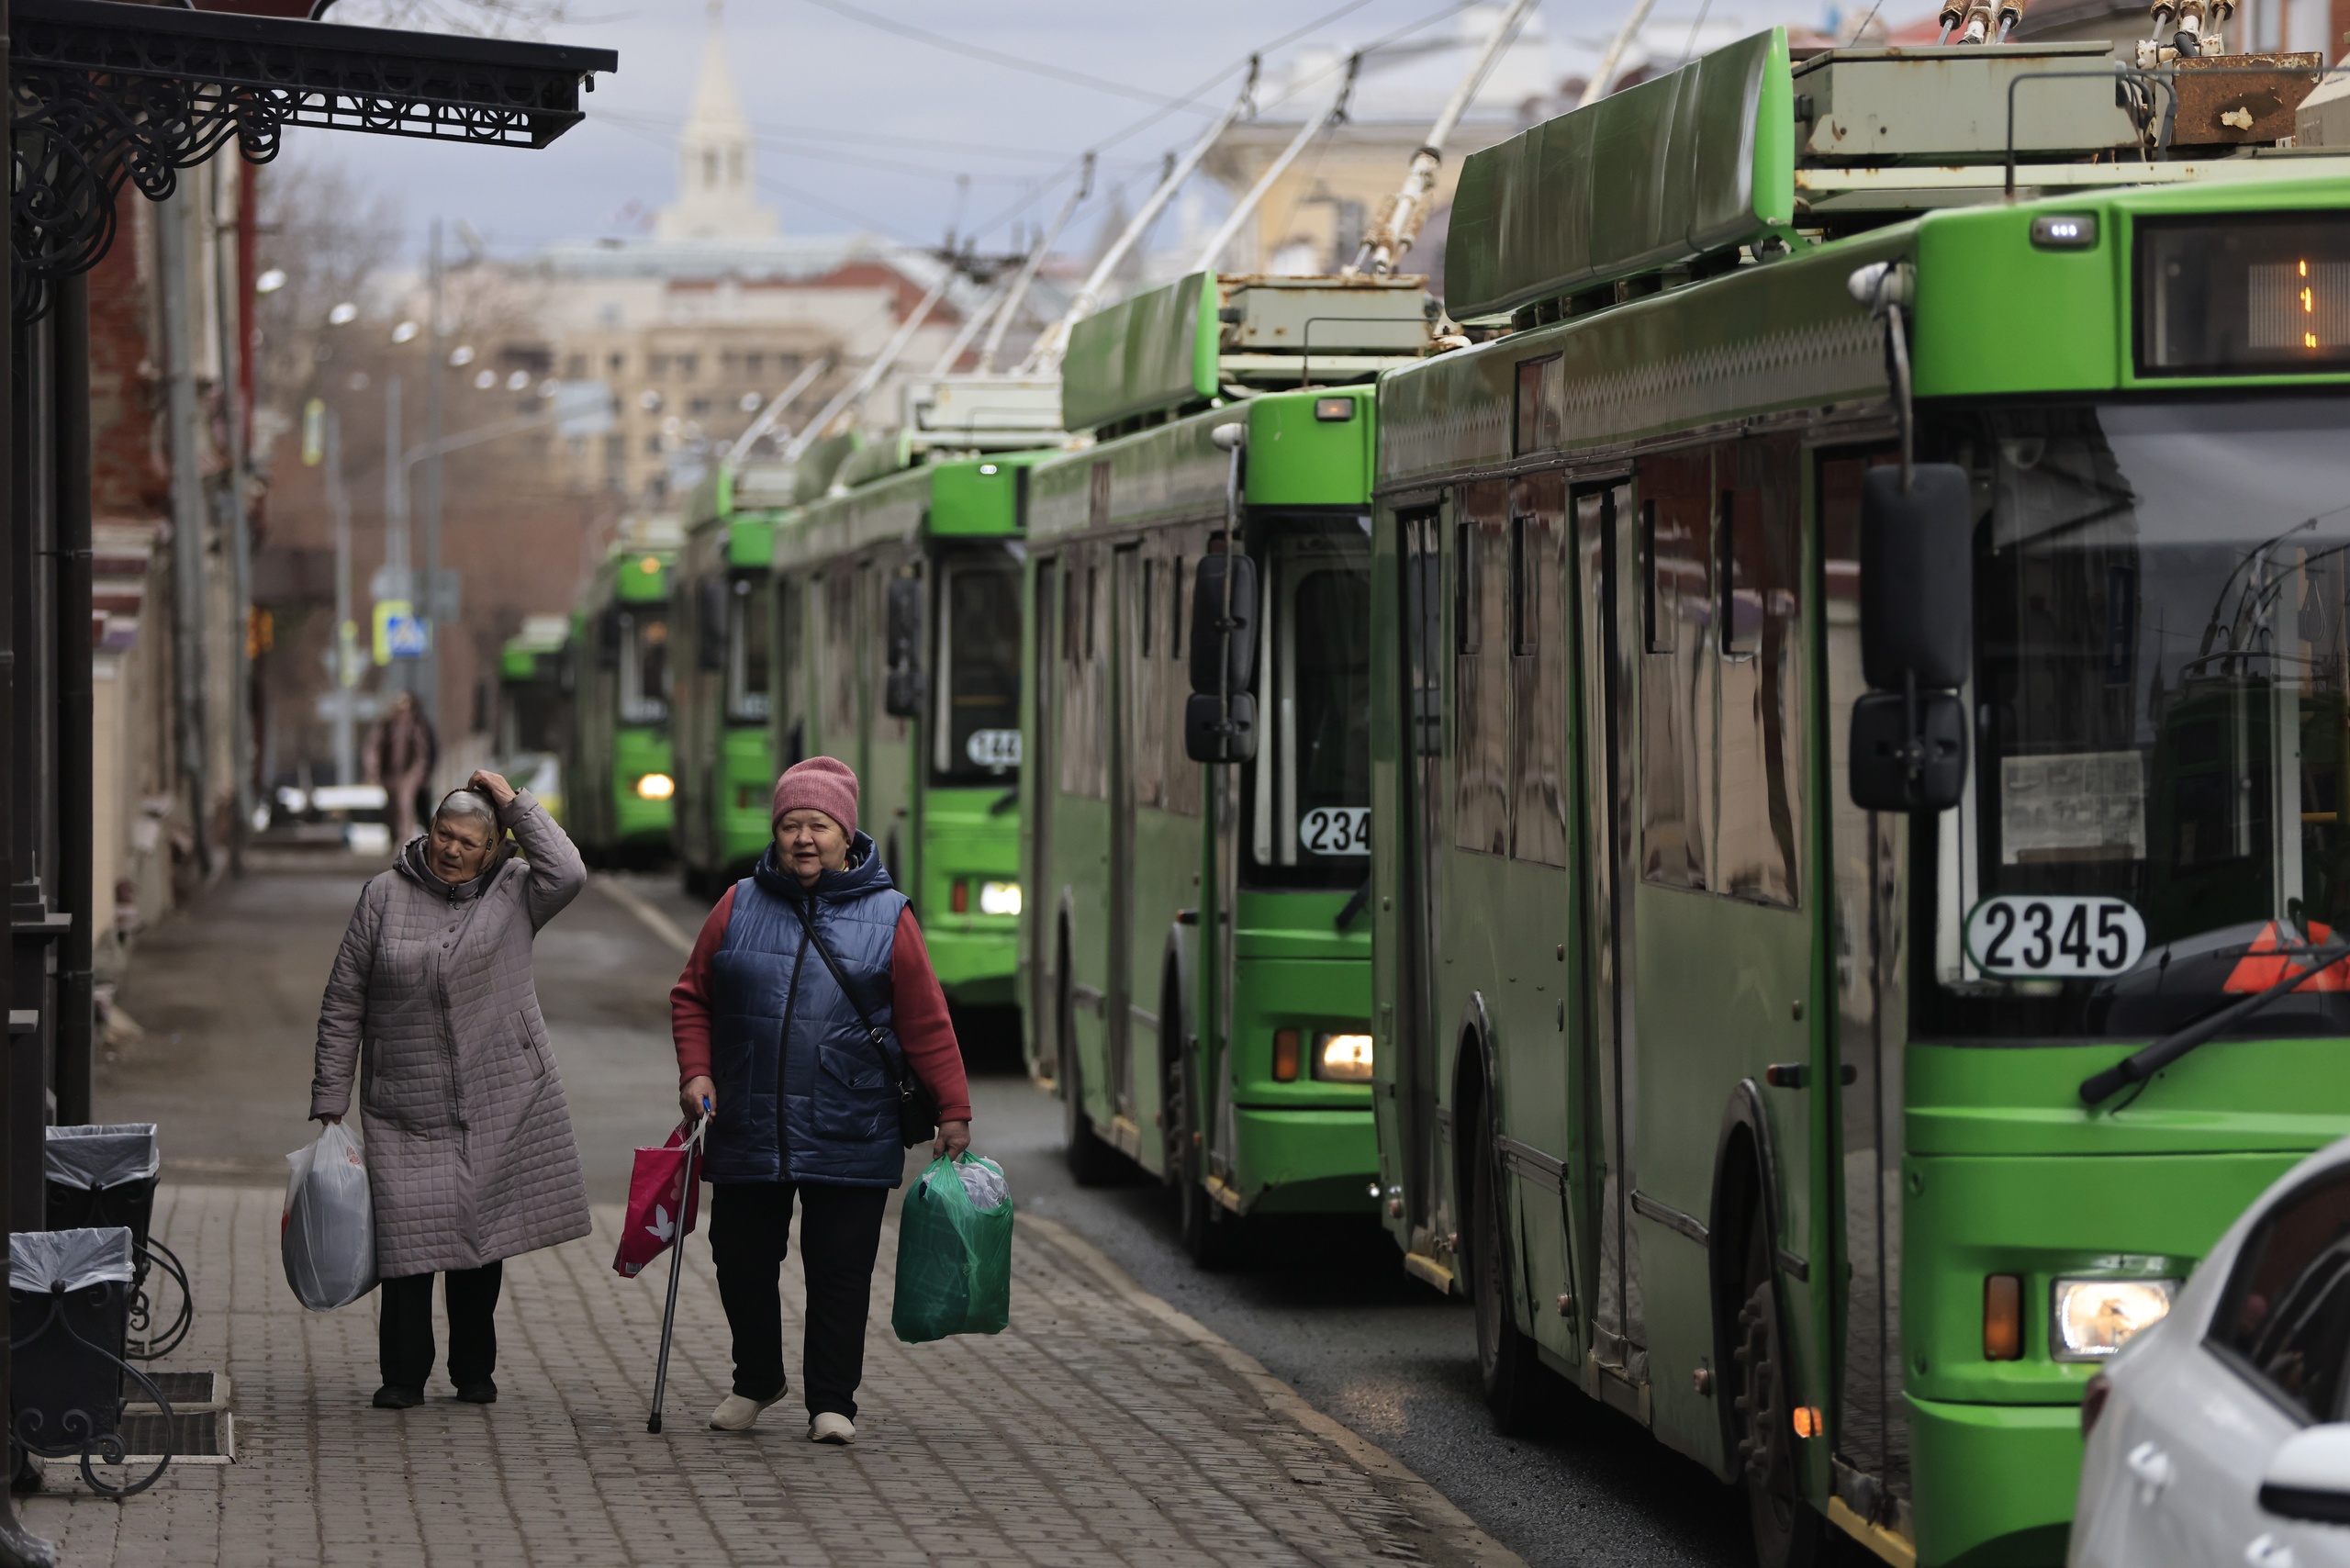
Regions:
<instances>
[{"instance_id":1,"label":"nearer of the two black trash bins with scrolled ironwork","mask_svg":"<svg viewBox=\"0 0 2350 1568\"><path fill-rule=\"evenodd\" d=\"M106 1497L136 1497L172 1465L172 1403L122 1359L132 1298L132 1232L31 1229L7 1241L9 1429L45 1460L80 1458L82 1481ZM143 1476L101 1481L122 1465L122 1380L162 1413L162 1453Z\"/></svg>"}]
</instances>

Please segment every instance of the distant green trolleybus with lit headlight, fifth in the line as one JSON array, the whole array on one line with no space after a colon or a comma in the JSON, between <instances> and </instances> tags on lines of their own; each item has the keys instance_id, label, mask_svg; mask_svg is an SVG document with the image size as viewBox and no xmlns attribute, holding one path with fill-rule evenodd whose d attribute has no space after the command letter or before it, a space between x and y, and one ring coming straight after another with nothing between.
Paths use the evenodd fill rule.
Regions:
<instances>
[{"instance_id":1,"label":"distant green trolleybus with lit headlight, fifth in the line","mask_svg":"<svg viewBox=\"0 0 2350 1568\"><path fill-rule=\"evenodd\" d=\"M677 522L632 517L571 611L564 804L590 865L670 853L670 571Z\"/></svg>"}]
</instances>

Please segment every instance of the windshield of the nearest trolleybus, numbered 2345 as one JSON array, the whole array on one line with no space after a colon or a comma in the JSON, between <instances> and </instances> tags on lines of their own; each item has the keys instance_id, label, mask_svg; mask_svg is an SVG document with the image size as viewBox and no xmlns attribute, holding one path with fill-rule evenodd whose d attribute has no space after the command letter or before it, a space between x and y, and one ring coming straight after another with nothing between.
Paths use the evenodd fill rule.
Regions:
<instances>
[{"instance_id":1,"label":"windshield of the nearest trolleybus, numbered 2345","mask_svg":"<svg viewBox=\"0 0 2350 1568\"><path fill-rule=\"evenodd\" d=\"M2148 1034L2350 936L2350 400L1946 418L1974 773L1915 837L1920 1034ZM2350 961L2249 1020L2343 1032Z\"/></svg>"}]
</instances>

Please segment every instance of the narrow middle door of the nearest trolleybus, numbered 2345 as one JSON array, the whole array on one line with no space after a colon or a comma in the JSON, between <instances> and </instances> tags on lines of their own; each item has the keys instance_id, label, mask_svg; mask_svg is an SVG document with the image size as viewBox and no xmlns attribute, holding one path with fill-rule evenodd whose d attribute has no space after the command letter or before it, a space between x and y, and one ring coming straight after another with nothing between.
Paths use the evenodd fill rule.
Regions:
<instances>
[{"instance_id":1,"label":"narrow middle door of the nearest trolleybus, numbered 2345","mask_svg":"<svg viewBox=\"0 0 2350 1568\"><path fill-rule=\"evenodd\" d=\"M1586 1048L1579 1053L1596 1100L1591 1164L1598 1182L1598 1279L1591 1314L1593 1356L1617 1371L1633 1371L1633 1352L1647 1338L1640 1326L1640 1255L1629 1225L1633 1187L1631 1147L1631 943L1626 933L1633 863L1633 764L1631 724L1633 658L1622 625L1638 625L1622 607L1617 562L1638 559L1626 534L1633 527L1631 487L1574 496L1574 614L1582 679L1577 682L1577 738L1582 750L1582 842L1591 875L1584 879L1582 985ZM1589 1213L1591 1190L1584 1190Z\"/></svg>"}]
</instances>

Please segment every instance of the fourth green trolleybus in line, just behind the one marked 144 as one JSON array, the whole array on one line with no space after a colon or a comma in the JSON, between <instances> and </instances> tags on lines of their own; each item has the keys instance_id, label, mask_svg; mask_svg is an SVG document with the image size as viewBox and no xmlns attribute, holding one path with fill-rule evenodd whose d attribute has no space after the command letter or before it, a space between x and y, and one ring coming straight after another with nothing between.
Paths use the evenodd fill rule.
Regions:
<instances>
[{"instance_id":1,"label":"fourth green trolleybus in line, just behind the one marked 144","mask_svg":"<svg viewBox=\"0 0 2350 1568\"><path fill-rule=\"evenodd\" d=\"M750 875L773 837L766 806L776 792L776 741L766 691L776 599L766 569L792 498L787 480L790 470L773 463L714 465L693 491L686 548L670 583L677 865L686 891L707 898Z\"/></svg>"}]
</instances>

